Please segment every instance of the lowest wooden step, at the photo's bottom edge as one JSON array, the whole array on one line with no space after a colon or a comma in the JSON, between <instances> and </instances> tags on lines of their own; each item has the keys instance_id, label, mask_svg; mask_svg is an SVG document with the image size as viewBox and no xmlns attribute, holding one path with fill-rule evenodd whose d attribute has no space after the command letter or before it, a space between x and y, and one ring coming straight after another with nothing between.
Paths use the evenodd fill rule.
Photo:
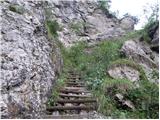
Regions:
<instances>
[{"instance_id":1,"label":"lowest wooden step, at the photo's bottom edge","mask_svg":"<svg viewBox=\"0 0 160 120\"><path fill-rule=\"evenodd\" d=\"M84 119L89 118L89 114L79 115L79 114L71 114L71 115L45 115L43 119Z\"/></svg>"}]
</instances>

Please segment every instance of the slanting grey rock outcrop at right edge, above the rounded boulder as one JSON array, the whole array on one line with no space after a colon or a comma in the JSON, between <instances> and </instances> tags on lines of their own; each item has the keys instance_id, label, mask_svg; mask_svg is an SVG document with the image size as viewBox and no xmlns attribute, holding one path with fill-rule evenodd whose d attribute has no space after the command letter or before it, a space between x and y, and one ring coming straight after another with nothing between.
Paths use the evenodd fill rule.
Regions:
<instances>
[{"instance_id":1,"label":"slanting grey rock outcrop at right edge, above the rounded boulder","mask_svg":"<svg viewBox=\"0 0 160 120\"><path fill-rule=\"evenodd\" d=\"M152 51L148 44L139 40L129 40L124 43L121 51L126 57L143 66L149 80L158 83L158 78L151 78L151 74L154 69L158 70L159 54Z\"/></svg>"}]
</instances>

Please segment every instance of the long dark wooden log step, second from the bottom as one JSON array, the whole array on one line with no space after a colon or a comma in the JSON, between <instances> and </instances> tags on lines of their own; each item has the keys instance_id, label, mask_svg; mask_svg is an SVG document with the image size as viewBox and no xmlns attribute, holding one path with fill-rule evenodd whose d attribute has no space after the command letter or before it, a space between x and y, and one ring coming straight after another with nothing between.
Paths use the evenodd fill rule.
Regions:
<instances>
[{"instance_id":1,"label":"long dark wooden log step, second from the bottom","mask_svg":"<svg viewBox=\"0 0 160 120\"><path fill-rule=\"evenodd\" d=\"M47 111L60 111L60 110L96 110L95 106L54 106L48 107Z\"/></svg>"}]
</instances>

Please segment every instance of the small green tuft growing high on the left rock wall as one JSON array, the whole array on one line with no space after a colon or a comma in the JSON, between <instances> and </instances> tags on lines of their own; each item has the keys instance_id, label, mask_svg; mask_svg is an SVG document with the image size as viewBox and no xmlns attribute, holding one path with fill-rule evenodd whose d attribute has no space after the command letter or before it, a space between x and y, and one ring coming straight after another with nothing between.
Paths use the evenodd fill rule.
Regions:
<instances>
[{"instance_id":1,"label":"small green tuft growing high on the left rock wall","mask_svg":"<svg viewBox=\"0 0 160 120\"><path fill-rule=\"evenodd\" d=\"M25 11L25 9L22 6L19 6L19 5L10 5L9 10L13 11L13 12L16 12L16 13L19 13L19 14L23 14L24 11Z\"/></svg>"}]
</instances>

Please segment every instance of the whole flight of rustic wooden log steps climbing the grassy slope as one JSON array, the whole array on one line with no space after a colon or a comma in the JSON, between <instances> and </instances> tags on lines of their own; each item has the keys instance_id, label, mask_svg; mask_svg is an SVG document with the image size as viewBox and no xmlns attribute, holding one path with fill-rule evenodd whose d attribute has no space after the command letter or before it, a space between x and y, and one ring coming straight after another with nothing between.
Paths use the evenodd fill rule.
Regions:
<instances>
[{"instance_id":1,"label":"whole flight of rustic wooden log steps climbing the grassy slope","mask_svg":"<svg viewBox=\"0 0 160 120\"><path fill-rule=\"evenodd\" d=\"M56 105L46 109L47 119L89 118L87 113L97 109L97 100L87 90L81 75L74 71L69 71L68 74L66 86L59 90Z\"/></svg>"}]
</instances>

